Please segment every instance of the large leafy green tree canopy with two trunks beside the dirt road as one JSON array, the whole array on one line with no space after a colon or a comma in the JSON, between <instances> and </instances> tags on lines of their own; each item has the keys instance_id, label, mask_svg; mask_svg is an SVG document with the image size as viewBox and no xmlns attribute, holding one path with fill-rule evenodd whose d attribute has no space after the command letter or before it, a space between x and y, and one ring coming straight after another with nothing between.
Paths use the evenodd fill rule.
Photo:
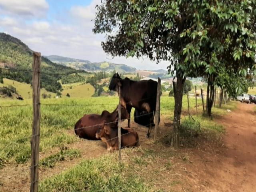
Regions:
<instances>
[{"instance_id":1,"label":"large leafy green tree canopy with two trunks beside the dirt road","mask_svg":"<svg viewBox=\"0 0 256 192\"><path fill-rule=\"evenodd\" d=\"M208 114L219 68L246 75L255 69L256 0L105 0L97 8L94 33L112 56L168 60L176 75L172 146L178 146L182 90L187 76L208 80ZM174 145L173 145L174 143Z\"/></svg>"}]
</instances>

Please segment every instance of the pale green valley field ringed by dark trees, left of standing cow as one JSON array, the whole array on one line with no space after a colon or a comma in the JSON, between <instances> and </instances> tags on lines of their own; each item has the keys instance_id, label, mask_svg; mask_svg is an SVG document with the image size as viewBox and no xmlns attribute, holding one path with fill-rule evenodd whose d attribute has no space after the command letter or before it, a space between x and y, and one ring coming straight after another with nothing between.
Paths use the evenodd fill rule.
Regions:
<instances>
[{"instance_id":1,"label":"pale green valley field ringed by dark trees, left of standing cow","mask_svg":"<svg viewBox=\"0 0 256 192\"><path fill-rule=\"evenodd\" d=\"M81 84L72 86L72 89L64 89L61 93L62 96L69 94L71 98L91 97L94 94L94 87L91 84Z\"/></svg>"}]
</instances>

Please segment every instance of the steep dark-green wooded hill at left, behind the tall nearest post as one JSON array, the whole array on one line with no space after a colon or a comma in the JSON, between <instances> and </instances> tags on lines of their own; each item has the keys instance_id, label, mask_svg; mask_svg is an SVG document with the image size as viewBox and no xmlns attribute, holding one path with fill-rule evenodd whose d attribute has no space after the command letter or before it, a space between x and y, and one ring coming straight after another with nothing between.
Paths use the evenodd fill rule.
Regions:
<instances>
[{"instance_id":1,"label":"steep dark-green wooded hill at left, behind the tall nearest post","mask_svg":"<svg viewBox=\"0 0 256 192\"><path fill-rule=\"evenodd\" d=\"M18 82L32 83L33 51L21 40L5 33L0 33L0 79L8 78ZM3 70L2 68L8 69ZM41 87L50 92L62 90L59 80L66 83L85 80L78 75L82 70L62 66L42 57ZM76 74L76 75L74 75Z\"/></svg>"}]
</instances>

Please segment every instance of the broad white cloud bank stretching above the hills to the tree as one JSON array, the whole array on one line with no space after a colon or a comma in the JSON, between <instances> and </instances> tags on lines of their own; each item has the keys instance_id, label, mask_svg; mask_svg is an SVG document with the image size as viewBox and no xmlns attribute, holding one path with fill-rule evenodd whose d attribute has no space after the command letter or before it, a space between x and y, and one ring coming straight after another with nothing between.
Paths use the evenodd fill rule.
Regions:
<instances>
[{"instance_id":1,"label":"broad white cloud bank stretching above the hills to the tree","mask_svg":"<svg viewBox=\"0 0 256 192\"><path fill-rule=\"evenodd\" d=\"M42 2L42 0L40 1ZM2 3L2 0L0 2ZM28 0L23 2L28 2ZM100 0L94 0L89 6L70 8L68 24L62 23L60 20L47 20L47 22L28 20L30 22L25 22L24 19L12 15L0 18L0 26L8 34L19 38L32 50L41 52L42 55L56 54L91 62L123 63L137 69L166 69L169 65L168 62L161 62L157 65L156 62L151 62L148 58L116 57L112 59L112 56L104 53L101 47L104 36L92 33L93 22L91 20L94 18L95 6L98 3ZM67 13L63 12L62 14L66 15Z\"/></svg>"}]
</instances>

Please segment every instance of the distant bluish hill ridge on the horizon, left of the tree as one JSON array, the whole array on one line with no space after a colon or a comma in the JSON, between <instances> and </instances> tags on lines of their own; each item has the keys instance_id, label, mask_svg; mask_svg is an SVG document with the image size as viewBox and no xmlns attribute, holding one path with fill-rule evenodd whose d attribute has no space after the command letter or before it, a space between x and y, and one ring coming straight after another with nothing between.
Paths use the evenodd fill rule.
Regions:
<instances>
[{"instance_id":1,"label":"distant bluish hill ridge on the horizon, left of the tree","mask_svg":"<svg viewBox=\"0 0 256 192\"><path fill-rule=\"evenodd\" d=\"M74 58L68 58L68 57L62 57L57 55L50 55L45 56L52 62L61 64L63 66L68 66L75 68L77 70L86 70L86 71L106 71L106 72L112 72L113 70L116 70L117 72L121 73L135 73L136 68L127 66L125 64L115 64L111 62L90 62L88 60L81 60L81 59L74 59Z\"/></svg>"}]
</instances>

